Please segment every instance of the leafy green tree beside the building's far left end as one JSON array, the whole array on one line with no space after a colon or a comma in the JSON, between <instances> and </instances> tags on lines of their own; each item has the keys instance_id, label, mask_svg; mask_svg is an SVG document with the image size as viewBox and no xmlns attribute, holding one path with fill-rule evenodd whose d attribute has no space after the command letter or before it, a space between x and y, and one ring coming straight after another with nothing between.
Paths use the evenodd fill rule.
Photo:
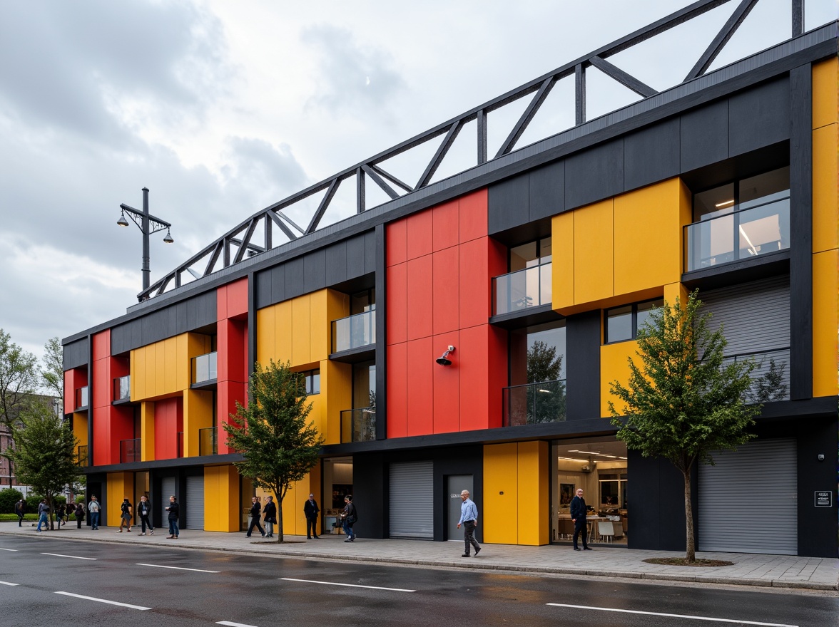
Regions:
<instances>
[{"instance_id":1,"label":"leafy green tree beside the building's far left end","mask_svg":"<svg viewBox=\"0 0 839 627\"><path fill-rule=\"evenodd\" d=\"M32 402L20 414L20 425L12 433L14 448L8 448L3 456L14 462L18 478L44 495L50 509L55 510L55 495L75 483L79 474L77 440L70 426L55 416L48 403Z\"/></svg>"}]
</instances>

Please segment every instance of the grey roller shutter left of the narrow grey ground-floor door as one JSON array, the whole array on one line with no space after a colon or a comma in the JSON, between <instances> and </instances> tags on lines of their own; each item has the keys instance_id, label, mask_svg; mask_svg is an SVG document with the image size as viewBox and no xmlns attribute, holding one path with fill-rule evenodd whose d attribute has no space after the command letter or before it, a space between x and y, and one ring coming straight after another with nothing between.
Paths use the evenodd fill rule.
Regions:
<instances>
[{"instance_id":1,"label":"grey roller shutter left of the narrow grey ground-floor door","mask_svg":"<svg viewBox=\"0 0 839 627\"><path fill-rule=\"evenodd\" d=\"M430 461L390 464L390 537L434 539L433 477Z\"/></svg>"}]
</instances>

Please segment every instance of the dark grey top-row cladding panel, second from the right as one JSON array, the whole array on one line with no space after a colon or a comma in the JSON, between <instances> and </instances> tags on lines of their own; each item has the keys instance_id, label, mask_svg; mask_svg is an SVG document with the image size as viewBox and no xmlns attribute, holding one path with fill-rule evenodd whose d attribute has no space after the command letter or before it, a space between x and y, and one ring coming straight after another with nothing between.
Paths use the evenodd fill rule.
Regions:
<instances>
[{"instance_id":1,"label":"dark grey top-row cladding panel, second from the right","mask_svg":"<svg viewBox=\"0 0 839 627\"><path fill-rule=\"evenodd\" d=\"M682 172L690 172L728 158L728 101L694 109L681 117Z\"/></svg>"}]
</instances>

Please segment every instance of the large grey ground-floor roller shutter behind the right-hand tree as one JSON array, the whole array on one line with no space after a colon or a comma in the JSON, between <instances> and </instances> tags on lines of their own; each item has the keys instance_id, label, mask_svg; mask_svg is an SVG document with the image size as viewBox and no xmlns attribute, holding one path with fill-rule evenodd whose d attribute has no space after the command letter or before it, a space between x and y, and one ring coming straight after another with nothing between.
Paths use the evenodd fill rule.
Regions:
<instances>
[{"instance_id":1,"label":"large grey ground-floor roller shutter behind the right-hand tree","mask_svg":"<svg viewBox=\"0 0 839 627\"><path fill-rule=\"evenodd\" d=\"M795 439L751 442L699 467L699 550L798 553Z\"/></svg>"}]
</instances>

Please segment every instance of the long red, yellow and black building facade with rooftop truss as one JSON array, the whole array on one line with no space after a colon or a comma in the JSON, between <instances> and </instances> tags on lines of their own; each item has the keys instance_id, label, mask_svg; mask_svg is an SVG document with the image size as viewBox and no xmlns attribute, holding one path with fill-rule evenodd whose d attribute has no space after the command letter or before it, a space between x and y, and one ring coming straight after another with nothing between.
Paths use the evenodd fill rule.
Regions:
<instances>
[{"instance_id":1,"label":"long red, yellow and black building facade with rooftop truss","mask_svg":"<svg viewBox=\"0 0 839 627\"><path fill-rule=\"evenodd\" d=\"M310 492L331 532L352 493L362 537L459 538L466 488L482 542L543 545L567 539L582 487L592 542L684 549L680 474L607 416L650 309L698 289L728 357L758 361L763 412L757 438L696 468L697 548L836 557L839 39L837 23L794 34L660 92L605 61L624 38L522 88L538 108L576 80L567 131L515 147L529 109L487 158L499 97L434 130L404 194L381 155L349 168L319 213L354 174L356 215L273 246L278 203L208 247L203 276L181 267L65 339L65 414L105 524L146 494L155 516L177 495L186 529L245 528L256 492L221 423L275 360L305 373L326 438L285 533L305 531ZM586 121L592 66L643 97ZM430 182L463 121L477 166ZM366 209L365 180L391 199Z\"/></svg>"}]
</instances>

